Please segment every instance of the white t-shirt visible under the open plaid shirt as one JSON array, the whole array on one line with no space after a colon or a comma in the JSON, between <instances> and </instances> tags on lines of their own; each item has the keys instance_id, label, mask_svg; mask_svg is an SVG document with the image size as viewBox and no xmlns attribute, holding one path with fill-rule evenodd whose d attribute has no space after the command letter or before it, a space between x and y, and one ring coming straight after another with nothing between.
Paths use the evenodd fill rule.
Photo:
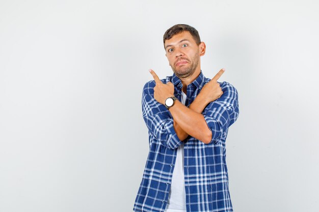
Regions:
<instances>
[{"instance_id":1,"label":"white t-shirt visible under the open plaid shirt","mask_svg":"<svg viewBox=\"0 0 319 212\"><path fill-rule=\"evenodd\" d=\"M185 105L186 95L181 93L181 103ZM184 180L184 143L177 148L176 162L172 176L171 190L165 212L187 212Z\"/></svg>"}]
</instances>

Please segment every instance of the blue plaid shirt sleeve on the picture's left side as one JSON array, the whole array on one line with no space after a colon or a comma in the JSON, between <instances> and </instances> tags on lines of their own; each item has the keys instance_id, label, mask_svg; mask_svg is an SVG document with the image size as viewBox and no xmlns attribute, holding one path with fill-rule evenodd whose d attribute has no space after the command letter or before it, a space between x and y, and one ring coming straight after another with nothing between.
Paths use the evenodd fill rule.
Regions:
<instances>
[{"instance_id":1,"label":"blue plaid shirt sleeve on the picture's left side","mask_svg":"<svg viewBox=\"0 0 319 212\"><path fill-rule=\"evenodd\" d=\"M173 118L166 107L154 99L155 83L145 84L142 95L142 114L151 135L170 149L178 148L182 144L173 125ZM152 86L154 84L154 86Z\"/></svg>"}]
</instances>

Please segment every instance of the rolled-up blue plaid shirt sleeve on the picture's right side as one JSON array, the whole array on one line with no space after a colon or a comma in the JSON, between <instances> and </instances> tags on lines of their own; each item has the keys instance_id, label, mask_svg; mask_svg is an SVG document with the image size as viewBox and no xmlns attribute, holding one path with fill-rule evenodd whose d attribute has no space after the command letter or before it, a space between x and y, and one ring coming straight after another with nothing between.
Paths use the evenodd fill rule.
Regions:
<instances>
[{"instance_id":1,"label":"rolled-up blue plaid shirt sleeve on the picture's right side","mask_svg":"<svg viewBox=\"0 0 319 212\"><path fill-rule=\"evenodd\" d=\"M211 130L209 143L217 143L220 138L224 138L228 128L239 115L236 88L228 82L223 82L221 87L223 95L214 102L210 102L203 111L207 126Z\"/></svg>"}]
</instances>

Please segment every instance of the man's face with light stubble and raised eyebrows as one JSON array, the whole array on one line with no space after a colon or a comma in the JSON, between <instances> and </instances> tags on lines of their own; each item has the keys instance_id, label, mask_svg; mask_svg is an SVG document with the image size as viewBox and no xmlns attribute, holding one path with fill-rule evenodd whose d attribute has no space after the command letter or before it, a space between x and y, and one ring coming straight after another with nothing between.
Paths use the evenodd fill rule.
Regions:
<instances>
[{"instance_id":1,"label":"man's face with light stubble and raised eyebrows","mask_svg":"<svg viewBox=\"0 0 319 212\"><path fill-rule=\"evenodd\" d=\"M191 76L198 67L200 47L190 32L184 31L166 40L165 51L169 64L178 78Z\"/></svg>"}]
</instances>

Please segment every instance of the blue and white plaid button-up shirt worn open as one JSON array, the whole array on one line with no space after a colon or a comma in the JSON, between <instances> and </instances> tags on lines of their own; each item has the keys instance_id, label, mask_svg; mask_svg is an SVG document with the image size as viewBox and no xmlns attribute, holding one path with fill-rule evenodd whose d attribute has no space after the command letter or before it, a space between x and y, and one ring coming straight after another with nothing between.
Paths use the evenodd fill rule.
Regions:
<instances>
[{"instance_id":1,"label":"blue and white plaid button-up shirt worn open","mask_svg":"<svg viewBox=\"0 0 319 212\"><path fill-rule=\"evenodd\" d=\"M181 101L182 83L173 74L161 79L174 84L174 96ZM189 106L210 79L200 75L187 86ZM238 93L228 82L219 82L223 95L210 102L202 112L212 132L210 143L188 136L180 141L173 117L154 99L155 81L144 85L142 112L149 135L149 154L143 178L135 199L134 211L164 212L171 187L177 148L184 143L184 179L187 212L233 211L228 190L225 141L228 128L236 121Z\"/></svg>"}]
</instances>

